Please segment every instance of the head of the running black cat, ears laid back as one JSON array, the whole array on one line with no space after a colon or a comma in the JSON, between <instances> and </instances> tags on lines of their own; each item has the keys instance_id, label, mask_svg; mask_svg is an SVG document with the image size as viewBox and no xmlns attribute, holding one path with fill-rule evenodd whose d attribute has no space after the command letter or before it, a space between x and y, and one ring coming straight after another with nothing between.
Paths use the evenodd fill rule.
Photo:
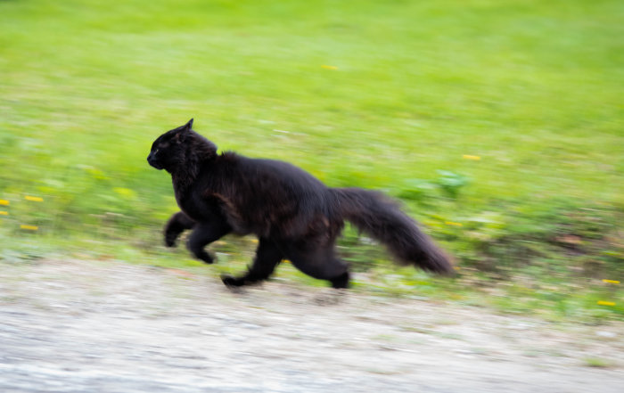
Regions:
<instances>
[{"instance_id":1,"label":"head of the running black cat, ears laid back","mask_svg":"<svg viewBox=\"0 0 624 393\"><path fill-rule=\"evenodd\" d=\"M174 128L160 135L147 156L147 162L156 169L172 173L201 160L217 155L217 146L193 131L193 119L184 126Z\"/></svg>"}]
</instances>

